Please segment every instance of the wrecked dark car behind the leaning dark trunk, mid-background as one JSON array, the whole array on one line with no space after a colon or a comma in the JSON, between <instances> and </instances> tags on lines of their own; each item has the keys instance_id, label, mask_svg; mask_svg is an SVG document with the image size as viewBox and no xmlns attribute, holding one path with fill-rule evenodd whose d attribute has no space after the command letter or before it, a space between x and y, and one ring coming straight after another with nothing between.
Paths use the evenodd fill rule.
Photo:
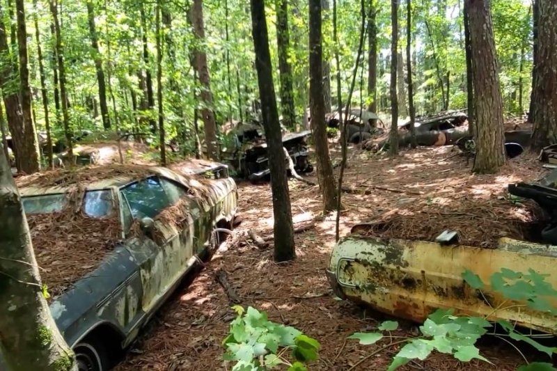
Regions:
<instances>
[{"instance_id":1,"label":"wrecked dark car behind the leaning dark trunk, mid-background","mask_svg":"<svg viewBox=\"0 0 557 371\"><path fill-rule=\"evenodd\" d=\"M311 173L313 166L308 159L309 130L298 133L283 131L283 147L294 162L297 173ZM221 157L239 177L260 180L269 175L267 143L262 126L253 122L238 123L225 133L226 143L221 149Z\"/></svg>"}]
</instances>

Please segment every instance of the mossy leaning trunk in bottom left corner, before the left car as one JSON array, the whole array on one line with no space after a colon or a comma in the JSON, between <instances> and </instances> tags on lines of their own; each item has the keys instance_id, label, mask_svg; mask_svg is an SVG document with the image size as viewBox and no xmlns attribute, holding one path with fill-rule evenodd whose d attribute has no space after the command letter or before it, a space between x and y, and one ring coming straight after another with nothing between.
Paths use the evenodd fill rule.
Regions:
<instances>
[{"instance_id":1,"label":"mossy leaning trunk in bottom left corner, before the left car","mask_svg":"<svg viewBox=\"0 0 557 371\"><path fill-rule=\"evenodd\" d=\"M58 331L42 294L21 198L3 150L0 251L0 358L8 370L75 369L73 352Z\"/></svg>"}]
</instances>

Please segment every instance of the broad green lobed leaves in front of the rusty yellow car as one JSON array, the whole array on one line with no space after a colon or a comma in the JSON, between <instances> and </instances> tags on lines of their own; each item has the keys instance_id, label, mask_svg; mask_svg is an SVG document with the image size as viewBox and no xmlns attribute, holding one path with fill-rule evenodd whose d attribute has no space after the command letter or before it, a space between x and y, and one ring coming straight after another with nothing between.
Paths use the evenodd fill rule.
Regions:
<instances>
[{"instance_id":1,"label":"broad green lobed leaves in front of the rusty yellow car","mask_svg":"<svg viewBox=\"0 0 557 371\"><path fill-rule=\"evenodd\" d=\"M538 337L547 336L520 333L516 328L516 324L511 324L505 320L489 321L489 318L499 310L520 307L557 315L557 309L552 307L548 300L550 297L557 297L557 290L545 281L547 276L539 274L533 269L528 269L527 273L522 273L503 268L490 277L490 285L492 290L501 293L505 300L495 308L492 307L492 312L485 317L455 315L455 310L453 309L439 309L427 317L423 325L419 327L421 335L415 338L392 336L391 331L398 329L398 322L393 321L383 322L379 326L378 332L354 333L348 338L359 340L362 345L372 345L383 338L390 340L389 344L373 352L370 356L395 345L402 345L400 351L394 356L393 361L389 365L388 371L396 370L414 359L423 361L434 351L451 354L463 362L469 362L477 358L491 363L480 354L480 349L476 346L478 339L486 334L495 336L515 347L517 352L524 358L524 361L526 361L526 365L521 366L519 371L557 370L551 363L528 364L526 356L508 340L526 342L528 345L538 349L538 351L547 354L549 359L551 359L552 354L557 353L557 348L547 347L535 340ZM466 270L462 273L462 278L470 287L478 290L478 294L485 298L482 292L485 283L477 274ZM485 301L489 304L487 299ZM516 304L517 301L524 301L525 304ZM489 305L491 306L491 304ZM361 362L365 359L361 360Z\"/></svg>"}]
</instances>

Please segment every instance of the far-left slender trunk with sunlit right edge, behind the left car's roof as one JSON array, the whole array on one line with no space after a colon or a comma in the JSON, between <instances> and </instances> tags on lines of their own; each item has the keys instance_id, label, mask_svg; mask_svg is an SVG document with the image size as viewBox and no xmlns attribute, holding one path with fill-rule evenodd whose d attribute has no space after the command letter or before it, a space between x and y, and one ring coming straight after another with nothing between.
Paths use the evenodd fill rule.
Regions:
<instances>
[{"instance_id":1,"label":"far-left slender trunk with sunlit right edge, behind the left car's roof","mask_svg":"<svg viewBox=\"0 0 557 371\"><path fill-rule=\"evenodd\" d=\"M27 57L27 27L25 24L24 0L15 0L17 12L17 45L19 47L19 94L23 114L21 149L24 151L20 159L22 170L27 174L40 171L40 155L33 111L31 108L31 86L29 86L29 61Z\"/></svg>"}]
</instances>

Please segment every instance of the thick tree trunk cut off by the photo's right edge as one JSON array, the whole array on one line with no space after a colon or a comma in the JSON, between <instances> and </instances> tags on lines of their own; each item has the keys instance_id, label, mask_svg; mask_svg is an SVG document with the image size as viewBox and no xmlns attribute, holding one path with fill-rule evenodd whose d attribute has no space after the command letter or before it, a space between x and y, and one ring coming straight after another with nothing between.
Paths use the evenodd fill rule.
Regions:
<instances>
[{"instance_id":1,"label":"thick tree trunk cut off by the photo's right edge","mask_svg":"<svg viewBox=\"0 0 557 371\"><path fill-rule=\"evenodd\" d=\"M557 143L557 3L539 0L538 63L535 66L535 105L532 148Z\"/></svg>"}]
</instances>

